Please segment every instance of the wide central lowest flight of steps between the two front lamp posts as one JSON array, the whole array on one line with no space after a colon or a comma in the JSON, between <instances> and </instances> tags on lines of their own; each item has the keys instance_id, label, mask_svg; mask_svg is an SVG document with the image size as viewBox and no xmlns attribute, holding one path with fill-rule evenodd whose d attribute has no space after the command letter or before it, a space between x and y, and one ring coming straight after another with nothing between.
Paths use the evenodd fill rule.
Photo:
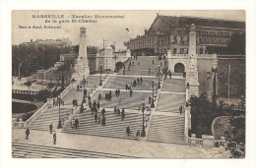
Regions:
<instances>
[{"instance_id":1,"label":"wide central lowest flight of steps between the two front lamp posts","mask_svg":"<svg viewBox=\"0 0 256 168\"><path fill-rule=\"evenodd\" d=\"M115 115L113 111L106 111L105 126L96 123L95 116L92 116L90 111L77 114L74 118L79 120L78 129L72 129L71 123L69 123L62 130L62 133L135 140L136 132L141 130L142 125L141 113L125 112L125 118L122 121L121 116ZM126 135L126 127L128 125L131 130L129 137Z\"/></svg>"}]
</instances>

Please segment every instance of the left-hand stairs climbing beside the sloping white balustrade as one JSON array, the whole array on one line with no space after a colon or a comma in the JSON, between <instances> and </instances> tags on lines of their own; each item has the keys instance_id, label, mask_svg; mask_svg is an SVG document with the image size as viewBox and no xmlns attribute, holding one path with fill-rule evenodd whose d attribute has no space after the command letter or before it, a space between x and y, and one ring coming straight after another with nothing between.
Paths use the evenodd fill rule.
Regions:
<instances>
[{"instance_id":1,"label":"left-hand stairs climbing beside the sloping white balustrade","mask_svg":"<svg viewBox=\"0 0 256 168\"><path fill-rule=\"evenodd\" d=\"M60 105L60 119L67 118L67 114L71 113L72 100L74 98L78 99L80 104L83 99L83 91L78 91L76 88L72 88L70 92L64 96L62 99L64 101L64 106ZM79 107L77 107L79 108ZM30 129L48 131L49 125L52 123L53 131L57 128L59 122L59 106L52 106L44 111L34 122L32 122Z\"/></svg>"}]
</instances>

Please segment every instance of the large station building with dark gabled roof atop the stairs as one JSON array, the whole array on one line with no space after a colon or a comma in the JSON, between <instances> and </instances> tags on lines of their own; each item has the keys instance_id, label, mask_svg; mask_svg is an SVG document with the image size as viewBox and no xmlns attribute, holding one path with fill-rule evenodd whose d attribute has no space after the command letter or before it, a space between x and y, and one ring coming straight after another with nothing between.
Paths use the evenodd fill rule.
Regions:
<instances>
[{"instance_id":1,"label":"large station building with dark gabled roof atop the stairs","mask_svg":"<svg viewBox=\"0 0 256 168\"><path fill-rule=\"evenodd\" d=\"M222 54L233 33L244 33L245 22L207 18L160 16L144 35L130 39L132 54L188 54L190 26L196 27L197 54Z\"/></svg>"}]
</instances>

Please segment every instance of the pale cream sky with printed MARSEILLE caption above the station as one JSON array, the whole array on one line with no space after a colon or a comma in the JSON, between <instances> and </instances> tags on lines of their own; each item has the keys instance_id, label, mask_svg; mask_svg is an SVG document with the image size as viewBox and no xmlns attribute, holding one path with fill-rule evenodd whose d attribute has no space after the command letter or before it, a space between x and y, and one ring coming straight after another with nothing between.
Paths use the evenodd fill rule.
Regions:
<instances>
[{"instance_id":1,"label":"pale cream sky with printed MARSEILLE caption above the station","mask_svg":"<svg viewBox=\"0 0 256 168\"><path fill-rule=\"evenodd\" d=\"M192 16L224 20L245 21L245 11L243 10L190 10L190 11L13 11L12 13L12 44L19 44L24 41L35 39L56 39L69 37L72 44L79 44L80 28L87 28L87 43L90 46L103 47L105 45L116 44L116 50L125 49L123 42L143 35L145 28L150 28L157 17L157 13L164 16ZM62 19L32 18L32 15L64 15ZM81 20L96 20L97 23L72 23L72 18L76 16L92 16L92 18L80 18ZM121 19L96 19L99 16L121 16ZM45 23L49 20L50 23ZM57 23L52 23L52 20ZM69 23L59 23L59 22ZM26 28L19 28L26 27ZM42 26L42 28L29 27ZM61 28L43 28L44 26L54 26ZM129 31L126 30L129 29Z\"/></svg>"}]
</instances>

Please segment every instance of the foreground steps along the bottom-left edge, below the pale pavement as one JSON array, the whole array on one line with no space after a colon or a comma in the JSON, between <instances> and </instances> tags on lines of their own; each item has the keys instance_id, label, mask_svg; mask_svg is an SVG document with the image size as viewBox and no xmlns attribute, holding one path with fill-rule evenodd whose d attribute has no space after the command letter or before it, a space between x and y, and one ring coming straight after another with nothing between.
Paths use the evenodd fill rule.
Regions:
<instances>
[{"instance_id":1,"label":"foreground steps along the bottom-left edge, below the pale pavement","mask_svg":"<svg viewBox=\"0 0 256 168\"><path fill-rule=\"evenodd\" d=\"M112 154L64 147L12 143L15 158L134 158L128 155Z\"/></svg>"}]
</instances>

